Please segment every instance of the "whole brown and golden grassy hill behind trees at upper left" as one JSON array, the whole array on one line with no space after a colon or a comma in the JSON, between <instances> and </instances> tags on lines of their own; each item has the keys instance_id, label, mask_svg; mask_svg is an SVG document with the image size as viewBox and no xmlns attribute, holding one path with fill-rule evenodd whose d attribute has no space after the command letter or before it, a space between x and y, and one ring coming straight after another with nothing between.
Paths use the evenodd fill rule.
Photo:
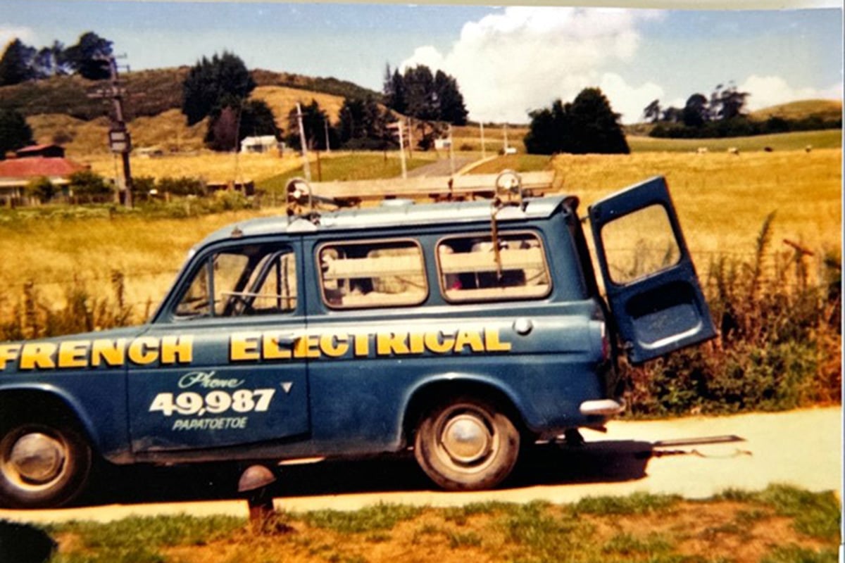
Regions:
<instances>
[{"instance_id":1,"label":"whole brown and golden grassy hill behind trees at upper left","mask_svg":"<svg viewBox=\"0 0 845 563\"><path fill-rule=\"evenodd\" d=\"M128 98L124 108L135 147L165 151L203 148L206 123L185 124L180 111L182 83L188 67L161 68L126 73L121 78ZM282 129L297 101L317 100L332 120L346 95L373 95L372 90L336 78L311 78L291 73L253 71L258 87L253 97L264 100ZM106 135L111 105L90 98L106 83L77 76L54 77L0 88L0 108L15 108L27 116L36 143L61 143L68 155L107 153Z\"/></svg>"}]
</instances>

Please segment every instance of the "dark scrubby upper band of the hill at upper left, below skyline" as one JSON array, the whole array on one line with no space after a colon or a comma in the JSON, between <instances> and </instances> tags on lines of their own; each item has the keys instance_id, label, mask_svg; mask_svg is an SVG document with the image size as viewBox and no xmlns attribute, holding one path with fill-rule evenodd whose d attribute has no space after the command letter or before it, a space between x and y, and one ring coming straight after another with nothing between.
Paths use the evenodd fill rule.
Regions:
<instances>
[{"instance_id":1,"label":"dark scrubby upper band of the hill at upper left, below skyline","mask_svg":"<svg viewBox=\"0 0 845 563\"><path fill-rule=\"evenodd\" d=\"M121 78L128 93L125 106L127 119L131 121L139 116L157 116L168 110L178 110L182 106L182 83L189 70L188 67L160 68L123 74ZM336 78L311 78L267 70L253 71L253 78L259 86L284 86L343 97L379 96L372 90ZM111 110L104 100L88 97L103 85L104 82L65 76L5 86L0 88L0 108L15 108L25 116L64 114L91 121L107 116ZM308 97L308 102L310 100L311 97Z\"/></svg>"}]
</instances>

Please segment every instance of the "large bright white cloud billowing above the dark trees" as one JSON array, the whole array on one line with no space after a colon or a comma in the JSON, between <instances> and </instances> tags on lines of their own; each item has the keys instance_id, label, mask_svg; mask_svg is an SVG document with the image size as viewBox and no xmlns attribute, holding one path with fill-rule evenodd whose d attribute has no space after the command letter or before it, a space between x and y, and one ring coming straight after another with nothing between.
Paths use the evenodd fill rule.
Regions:
<instances>
[{"instance_id":1,"label":"large bright white cloud billowing above the dark trees","mask_svg":"<svg viewBox=\"0 0 845 563\"><path fill-rule=\"evenodd\" d=\"M418 47L400 68L425 64L457 78L472 119L527 122L528 111L604 82L619 95L656 92L656 84L634 89L602 68L630 61L640 43L638 24L660 17L649 10L511 6L465 24L448 52ZM611 97L614 111L626 116L639 103Z\"/></svg>"}]
</instances>

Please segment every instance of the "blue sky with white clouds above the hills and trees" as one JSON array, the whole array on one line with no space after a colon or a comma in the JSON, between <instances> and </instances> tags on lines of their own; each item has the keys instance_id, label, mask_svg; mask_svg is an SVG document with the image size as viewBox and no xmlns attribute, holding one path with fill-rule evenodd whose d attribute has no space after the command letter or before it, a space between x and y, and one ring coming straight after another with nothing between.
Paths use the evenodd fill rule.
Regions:
<instances>
[{"instance_id":1,"label":"blue sky with white clouds above the hills and trees","mask_svg":"<svg viewBox=\"0 0 845 563\"><path fill-rule=\"evenodd\" d=\"M828 4L829 5L829 4ZM835 5L835 4L834 4ZM842 8L689 10L366 3L0 0L0 45L73 45L93 30L131 70L232 51L248 68L381 90L384 70L454 76L470 119L528 112L599 87L622 122L717 84L748 109L842 100Z\"/></svg>"}]
</instances>

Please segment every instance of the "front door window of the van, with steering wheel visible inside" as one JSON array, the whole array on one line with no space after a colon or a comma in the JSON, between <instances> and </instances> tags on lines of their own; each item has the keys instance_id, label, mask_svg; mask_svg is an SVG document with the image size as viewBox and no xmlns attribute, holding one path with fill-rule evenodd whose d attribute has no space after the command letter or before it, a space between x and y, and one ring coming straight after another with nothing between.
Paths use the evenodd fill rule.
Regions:
<instances>
[{"instance_id":1,"label":"front door window of the van, with steering wheel visible inside","mask_svg":"<svg viewBox=\"0 0 845 563\"><path fill-rule=\"evenodd\" d=\"M175 314L182 318L278 314L297 307L296 257L271 245L227 248L194 274Z\"/></svg>"}]
</instances>

